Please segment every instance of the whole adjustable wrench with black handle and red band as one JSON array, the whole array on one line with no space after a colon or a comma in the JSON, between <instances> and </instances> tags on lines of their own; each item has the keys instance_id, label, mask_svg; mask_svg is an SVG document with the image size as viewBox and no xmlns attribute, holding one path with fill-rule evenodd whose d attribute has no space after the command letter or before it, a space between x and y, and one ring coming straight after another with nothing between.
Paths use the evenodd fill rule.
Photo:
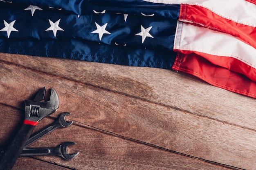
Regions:
<instances>
[{"instance_id":1,"label":"whole adjustable wrench with black handle and red band","mask_svg":"<svg viewBox=\"0 0 256 170\"><path fill-rule=\"evenodd\" d=\"M25 120L13 141L0 157L1 170L11 170L38 122L58 109L58 95L53 88L50 100L42 101L44 98L45 87L40 89L34 100L25 100Z\"/></svg>"}]
</instances>

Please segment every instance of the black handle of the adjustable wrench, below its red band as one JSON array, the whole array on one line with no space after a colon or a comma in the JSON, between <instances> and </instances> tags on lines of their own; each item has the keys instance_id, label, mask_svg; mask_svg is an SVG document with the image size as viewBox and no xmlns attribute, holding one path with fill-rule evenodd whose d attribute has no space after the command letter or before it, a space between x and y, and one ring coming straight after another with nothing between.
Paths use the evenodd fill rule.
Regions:
<instances>
[{"instance_id":1,"label":"black handle of the adjustable wrench, below its red band","mask_svg":"<svg viewBox=\"0 0 256 170\"><path fill-rule=\"evenodd\" d=\"M36 126L22 124L13 141L0 157L0 170L11 170Z\"/></svg>"}]
</instances>

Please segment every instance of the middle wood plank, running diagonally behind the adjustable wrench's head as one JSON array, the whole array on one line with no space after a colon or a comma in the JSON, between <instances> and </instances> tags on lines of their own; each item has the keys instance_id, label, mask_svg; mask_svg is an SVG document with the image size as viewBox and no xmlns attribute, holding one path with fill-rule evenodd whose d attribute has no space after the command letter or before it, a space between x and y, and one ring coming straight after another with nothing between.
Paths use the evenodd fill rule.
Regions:
<instances>
[{"instance_id":1,"label":"middle wood plank, running diagonally behind the adjustable wrench's head","mask_svg":"<svg viewBox=\"0 0 256 170\"><path fill-rule=\"evenodd\" d=\"M0 102L7 105L22 108L24 98L47 85L60 96L59 111L81 124L229 166L256 167L255 131L6 63L0 63L0 82Z\"/></svg>"}]
</instances>

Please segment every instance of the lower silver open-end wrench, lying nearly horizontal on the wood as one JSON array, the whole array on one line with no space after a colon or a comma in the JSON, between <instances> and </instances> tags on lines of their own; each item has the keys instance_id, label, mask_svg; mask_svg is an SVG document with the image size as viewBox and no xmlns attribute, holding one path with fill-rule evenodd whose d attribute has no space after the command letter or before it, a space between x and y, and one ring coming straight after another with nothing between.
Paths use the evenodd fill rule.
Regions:
<instances>
[{"instance_id":1,"label":"lower silver open-end wrench, lying nearly horizontal on the wood","mask_svg":"<svg viewBox=\"0 0 256 170\"><path fill-rule=\"evenodd\" d=\"M67 146L75 145L75 142L64 142L60 146L53 148L25 148L20 153L20 156L47 156L47 155L55 155L63 157L64 159L70 160L76 157L77 153L68 154Z\"/></svg>"}]
</instances>

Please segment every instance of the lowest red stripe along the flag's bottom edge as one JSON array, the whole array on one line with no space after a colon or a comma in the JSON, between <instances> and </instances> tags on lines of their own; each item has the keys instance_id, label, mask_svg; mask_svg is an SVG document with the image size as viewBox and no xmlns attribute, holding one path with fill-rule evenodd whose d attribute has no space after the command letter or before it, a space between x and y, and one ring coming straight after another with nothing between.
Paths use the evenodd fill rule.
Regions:
<instances>
[{"instance_id":1,"label":"lowest red stripe along the flag's bottom edge","mask_svg":"<svg viewBox=\"0 0 256 170\"><path fill-rule=\"evenodd\" d=\"M198 54L178 53L173 70L192 74L216 87L256 98L256 82L243 74L214 65Z\"/></svg>"}]
</instances>

